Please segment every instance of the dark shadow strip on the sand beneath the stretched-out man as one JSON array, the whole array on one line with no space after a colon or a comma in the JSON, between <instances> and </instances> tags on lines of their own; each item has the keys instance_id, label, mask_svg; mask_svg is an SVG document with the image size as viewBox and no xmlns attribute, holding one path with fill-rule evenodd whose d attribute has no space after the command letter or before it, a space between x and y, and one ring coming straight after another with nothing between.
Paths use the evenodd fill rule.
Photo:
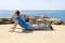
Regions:
<instances>
[{"instance_id":1,"label":"dark shadow strip on the sand beneath the stretched-out man","mask_svg":"<svg viewBox=\"0 0 65 43\"><path fill-rule=\"evenodd\" d=\"M16 29L22 29L22 28L16 28ZM53 28L51 29L27 29L27 30L22 30L22 31L14 31L17 33L32 33L32 31L54 31Z\"/></svg>"}]
</instances>

